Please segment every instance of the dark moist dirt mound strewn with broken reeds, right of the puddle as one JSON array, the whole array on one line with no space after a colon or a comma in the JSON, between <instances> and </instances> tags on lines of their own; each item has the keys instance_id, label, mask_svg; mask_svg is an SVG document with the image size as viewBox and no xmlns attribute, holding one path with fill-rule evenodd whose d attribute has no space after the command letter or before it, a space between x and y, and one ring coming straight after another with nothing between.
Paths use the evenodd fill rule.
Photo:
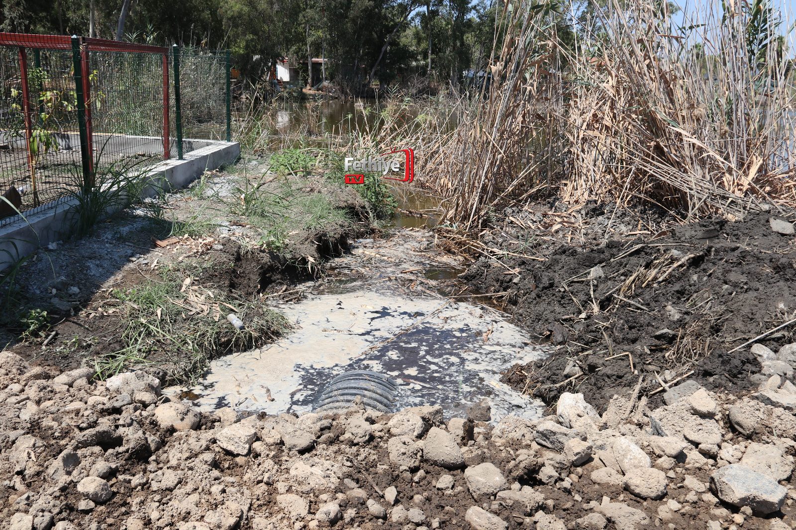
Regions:
<instances>
[{"instance_id":1,"label":"dark moist dirt mound strewn with broken reeds, right of the puddle","mask_svg":"<svg viewBox=\"0 0 796 530\"><path fill-rule=\"evenodd\" d=\"M758 360L732 350L796 310L793 237L774 232L770 217L562 245L544 260L479 259L465 275L470 284L508 292L513 317L560 346L505 380L548 403L576 388L601 410L639 380L642 395L686 374L705 388L748 388ZM792 341L786 326L758 343L776 350Z\"/></svg>"}]
</instances>

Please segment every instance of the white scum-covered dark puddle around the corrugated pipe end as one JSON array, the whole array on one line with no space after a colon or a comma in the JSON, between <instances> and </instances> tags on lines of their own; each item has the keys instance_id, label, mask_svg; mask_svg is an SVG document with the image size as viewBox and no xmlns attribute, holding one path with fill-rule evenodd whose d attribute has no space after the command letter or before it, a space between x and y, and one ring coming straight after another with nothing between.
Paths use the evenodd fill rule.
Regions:
<instances>
[{"instance_id":1,"label":"white scum-covered dark puddle around the corrugated pipe end","mask_svg":"<svg viewBox=\"0 0 796 530\"><path fill-rule=\"evenodd\" d=\"M493 421L540 415L537 401L500 377L512 364L545 353L497 311L377 290L311 295L278 309L297 329L264 348L213 360L201 384L190 390L195 405L269 414L311 411L334 376L365 369L399 383L398 409L439 404L451 417L488 398ZM184 390L181 396L187 397Z\"/></svg>"}]
</instances>

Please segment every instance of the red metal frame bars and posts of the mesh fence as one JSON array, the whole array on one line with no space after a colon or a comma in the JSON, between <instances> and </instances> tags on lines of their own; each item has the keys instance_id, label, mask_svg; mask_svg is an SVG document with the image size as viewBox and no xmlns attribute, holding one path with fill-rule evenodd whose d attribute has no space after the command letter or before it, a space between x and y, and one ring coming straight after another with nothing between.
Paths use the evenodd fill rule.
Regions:
<instances>
[{"instance_id":1,"label":"red metal frame bars and posts of the mesh fence","mask_svg":"<svg viewBox=\"0 0 796 530\"><path fill-rule=\"evenodd\" d=\"M30 150L31 125L30 125L30 102L28 95L28 76L27 60L25 49L72 49L72 37L66 35L35 35L32 33L0 33L0 46L12 46L19 48L19 67L22 77L22 103L25 112L25 128L28 138L28 158L29 165L32 164ZM86 129L88 132L88 153L91 154L90 171L94 173L94 151L92 141L92 112L91 112L91 84L89 75L91 67L88 58L92 51L96 52L116 52L116 53L157 53L162 55L163 64L163 158L168 160L170 152L170 130L169 130L169 49L165 46L139 45L131 42L108 41L107 39L97 39L92 37L80 37L80 73L83 78L83 99L86 108ZM35 190L34 190L35 191Z\"/></svg>"}]
</instances>

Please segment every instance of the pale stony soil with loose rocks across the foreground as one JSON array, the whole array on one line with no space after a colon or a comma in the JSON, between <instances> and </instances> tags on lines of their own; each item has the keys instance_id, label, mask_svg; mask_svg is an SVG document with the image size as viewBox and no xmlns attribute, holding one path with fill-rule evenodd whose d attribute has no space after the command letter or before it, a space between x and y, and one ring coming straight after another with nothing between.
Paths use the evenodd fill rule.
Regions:
<instances>
[{"instance_id":1,"label":"pale stony soil with loose rocks across the foreground","mask_svg":"<svg viewBox=\"0 0 796 530\"><path fill-rule=\"evenodd\" d=\"M0 353L0 521L75 528L796 527L796 388L688 381L650 410L582 394L496 426L439 407L382 415L200 413L145 372Z\"/></svg>"}]
</instances>

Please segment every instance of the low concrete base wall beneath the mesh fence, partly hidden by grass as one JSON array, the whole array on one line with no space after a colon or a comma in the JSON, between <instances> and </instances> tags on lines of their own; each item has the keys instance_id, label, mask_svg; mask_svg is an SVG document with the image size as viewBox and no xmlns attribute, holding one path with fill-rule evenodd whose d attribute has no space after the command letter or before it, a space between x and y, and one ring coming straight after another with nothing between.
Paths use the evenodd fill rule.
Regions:
<instances>
[{"instance_id":1,"label":"low concrete base wall beneath the mesh fence, partly hidden by grass","mask_svg":"<svg viewBox=\"0 0 796 530\"><path fill-rule=\"evenodd\" d=\"M154 197L160 189L168 191L183 188L205 170L216 170L240 158L238 142L192 142L210 145L185 153L184 160L167 160L152 166L148 175L154 185L145 190L146 197ZM72 208L75 205L74 199L65 201L44 212L0 227L0 271L18 259L33 254L41 246L68 238L72 233Z\"/></svg>"}]
</instances>

